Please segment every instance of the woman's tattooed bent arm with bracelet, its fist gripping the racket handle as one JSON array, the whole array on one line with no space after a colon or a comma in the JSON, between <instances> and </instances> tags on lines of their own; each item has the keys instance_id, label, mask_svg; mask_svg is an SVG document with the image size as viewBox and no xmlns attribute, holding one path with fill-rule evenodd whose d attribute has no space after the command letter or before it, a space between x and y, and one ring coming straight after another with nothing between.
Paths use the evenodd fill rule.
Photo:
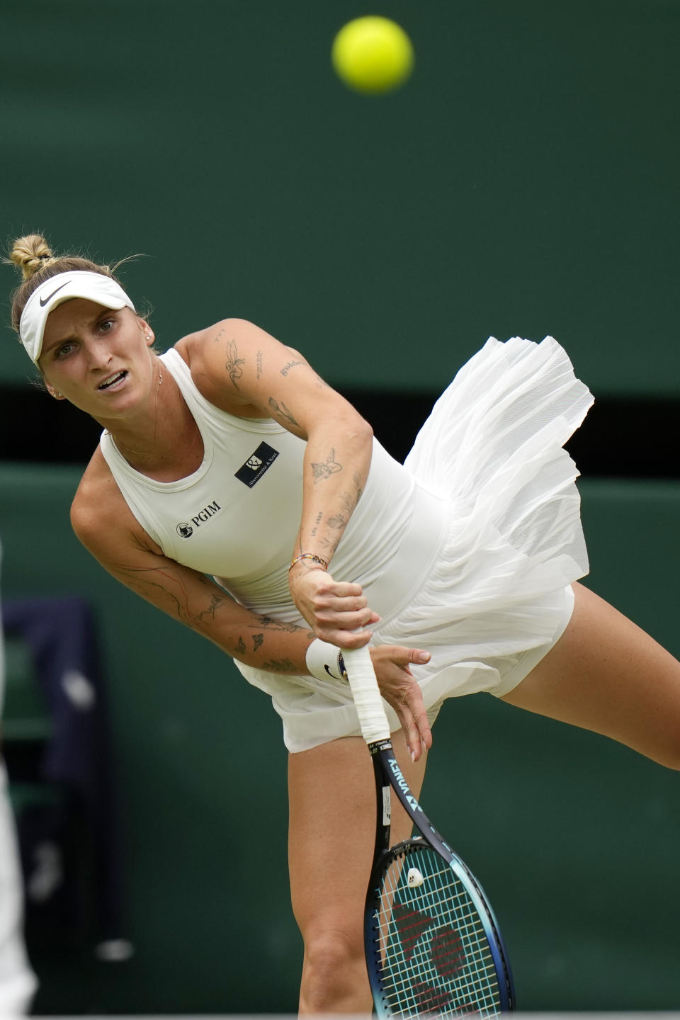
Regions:
<instances>
[{"instance_id":1,"label":"woman's tattooed bent arm with bracelet, its fist gripping the racket handle","mask_svg":"<svg viewBox=\"0 0 680 1020\"><path fill-rule=\"evenodd\" d=\"M252 322L224 319L185 343L193 378L212 404L242 417L272 417L307 441L292 558L306 554L330 564L368 477L370 425L302 355ZM308 558L292 567L290 584L318 638L345 648L367 644L366 628L378 616L361 585L335 581L330 569Z\"/></svg>"}]
</instances>

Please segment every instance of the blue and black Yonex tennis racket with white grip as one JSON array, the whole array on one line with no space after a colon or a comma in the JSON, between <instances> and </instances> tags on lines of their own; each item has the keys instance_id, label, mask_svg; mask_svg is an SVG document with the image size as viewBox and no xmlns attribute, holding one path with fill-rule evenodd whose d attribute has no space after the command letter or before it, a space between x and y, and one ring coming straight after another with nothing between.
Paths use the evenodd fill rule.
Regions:
<instances>
[{"instance_id":1,"label":"blue and black Yonex tennis racket with white grip","mask_svg":"<svg viewBox=\"0 0 680 1020\"><path fill-rule=\"evenodd\" d=\"M375 1011L378 1017L512 1012L512 973L490 904L399 768L368 649L343 649L343 658L375 773L375 853L364 915ZM420 832L395 847L391 790Z\"/></svg>"}]
</instances>

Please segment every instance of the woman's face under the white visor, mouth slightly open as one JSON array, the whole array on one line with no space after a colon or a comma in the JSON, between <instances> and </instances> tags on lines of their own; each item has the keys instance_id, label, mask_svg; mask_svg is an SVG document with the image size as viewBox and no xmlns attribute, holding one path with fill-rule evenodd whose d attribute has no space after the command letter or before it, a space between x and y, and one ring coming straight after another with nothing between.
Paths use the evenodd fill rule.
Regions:
<instances>
[{"instance_id":1,"label":"woman's face under the white visor, mouth slightly open","mask_svg":"<svg viewBox=\"0 0 680 1020\"><path fill-rule=\"evenodd\" d=\"M151 327L130 308L73 298L50 312L40 367L48 391L94 418L118 416L148 397Z\"/></svg>"}]
</instances>

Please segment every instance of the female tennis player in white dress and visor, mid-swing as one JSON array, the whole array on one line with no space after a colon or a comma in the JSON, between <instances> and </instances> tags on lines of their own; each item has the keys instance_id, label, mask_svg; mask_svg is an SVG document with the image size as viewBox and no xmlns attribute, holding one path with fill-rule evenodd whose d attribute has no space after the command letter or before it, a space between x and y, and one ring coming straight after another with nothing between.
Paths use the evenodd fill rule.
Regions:
<instances>
[{"instance_id":1,"label":"female tennis player in white dress and visor, mid-swing","mask_svg":"<svg viewBox=\"0 0 680 1020\"><path fill-rule=\"evenodd\" d=\"M11 259L13 324L48 393L103 428L75 533L231 656L282 719L302 1013L370 1010L373 779L342 648L370 646L416 796L442 700L480 691L678 767L680 663L577 583L587 557L563 445L591 396L554 340L489 340L400 465L251 322L159 355L107 266L54 257L36 235ZM397 815L393 838L406 830Z\"/></svg>"}]
</instances>

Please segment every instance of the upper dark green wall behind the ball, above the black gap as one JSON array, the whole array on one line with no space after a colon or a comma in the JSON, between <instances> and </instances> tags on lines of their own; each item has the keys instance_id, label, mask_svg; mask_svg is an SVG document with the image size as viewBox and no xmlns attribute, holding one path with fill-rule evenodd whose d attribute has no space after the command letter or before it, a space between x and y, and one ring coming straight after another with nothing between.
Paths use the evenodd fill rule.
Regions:
<instances>
[{"instance_id":1,"label":"upper dark green wall behind the ball, above the black gap","mask_svg":"<svg viewBox=\"0 0 680 1020\"><path fill-rule=\"evenodd\" d=\"M395 0L417 64L382 98L330 70L365 11L4 3L4 234L146 253L163 346L239 315L336 384L438 390L552 334L598 394L677 395L676 0Z\"/></svg>"}]
</instances>

